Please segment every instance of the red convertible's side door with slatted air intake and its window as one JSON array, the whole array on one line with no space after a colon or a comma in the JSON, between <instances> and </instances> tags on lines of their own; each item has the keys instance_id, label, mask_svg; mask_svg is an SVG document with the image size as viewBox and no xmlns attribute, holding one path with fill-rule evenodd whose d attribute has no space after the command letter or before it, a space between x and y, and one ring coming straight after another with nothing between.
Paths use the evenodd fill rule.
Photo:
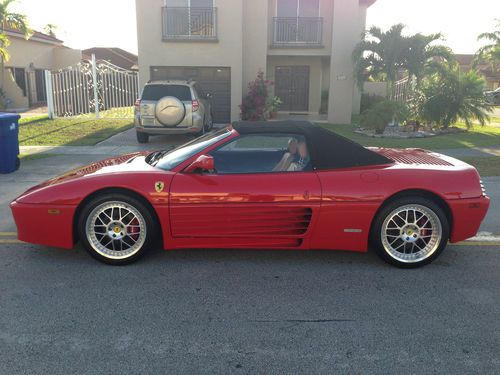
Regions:
<instances>
[{"instance_id":1,"label":"red convertible's side door with slatted air intake and its window","mask_svg":"<svg viewBox=\"0 0 500 375\"><path fill-rule=\"evenodd\" d=\"M170 190L176 246L306 247L320 207L319 179L312 168L273 171L293 137L239 137L210 153L216 172L176 174Z\"/></svg>"}]
</instances>

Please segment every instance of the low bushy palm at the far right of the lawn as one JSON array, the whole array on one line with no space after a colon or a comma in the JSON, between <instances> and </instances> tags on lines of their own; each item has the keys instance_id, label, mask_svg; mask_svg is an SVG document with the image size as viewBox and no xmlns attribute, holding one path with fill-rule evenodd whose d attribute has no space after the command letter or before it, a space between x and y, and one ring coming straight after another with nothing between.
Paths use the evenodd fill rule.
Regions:
<instances>
[{"instance_id":1,"label":"low bushy palm at the far right of the lawn","mask_svg":"<svg viewBox=\"0 0 500 375\"><path fill-rule=\"evenodd\" d=\"M483 94L484 79L475 71L460 72L442 64L419 85L416 97L418 117L434 126L448 128L462 119L468 128L473 120L485 125L492 106Z\"/></svg>"}]
</instances>

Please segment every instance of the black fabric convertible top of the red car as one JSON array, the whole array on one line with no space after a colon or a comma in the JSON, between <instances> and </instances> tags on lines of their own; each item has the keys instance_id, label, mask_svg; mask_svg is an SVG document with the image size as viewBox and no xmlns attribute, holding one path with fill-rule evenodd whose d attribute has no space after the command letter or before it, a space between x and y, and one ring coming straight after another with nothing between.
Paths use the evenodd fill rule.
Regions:
<instances>
[{"instance_id":1,"label":"black fabric convertible top of the red car","mask_svg":"<svg viewBox=\"0 0 500 375\"><path fill-rule=\"evenodd\" d=\"M303 135L314 169L361 167L393 164L374 151L308 121L239 121L233 129L240 134L286 133Z\"/></svg>"}]
</instances>

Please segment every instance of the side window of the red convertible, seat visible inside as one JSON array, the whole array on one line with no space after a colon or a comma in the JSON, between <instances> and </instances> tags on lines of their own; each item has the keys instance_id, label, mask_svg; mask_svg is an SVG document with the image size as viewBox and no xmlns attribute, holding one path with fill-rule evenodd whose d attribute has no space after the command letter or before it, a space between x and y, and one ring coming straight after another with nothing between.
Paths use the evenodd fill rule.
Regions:
<instances>
[{"instance_id":1,"label":"side window of the red convertible, seat visible inside","mask_svg":"<svg viewBox=\"0 0 500 375\"><path fill-rule=\"evenodd\" d=\"M219 174L302 172L312 170L304 136L249 134L210 153Z\"/></svg>"}]
</instances>

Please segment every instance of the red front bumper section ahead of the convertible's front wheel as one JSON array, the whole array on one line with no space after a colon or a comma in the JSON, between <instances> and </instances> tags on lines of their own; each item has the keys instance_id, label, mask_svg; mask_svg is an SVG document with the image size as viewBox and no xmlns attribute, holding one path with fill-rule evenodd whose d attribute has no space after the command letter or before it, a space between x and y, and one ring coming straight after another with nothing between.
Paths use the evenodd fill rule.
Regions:
<instances>
[{"instance_id":1,"label":"red front bumper section ahead of the convertible's front wheel","mask_svg":"<svg viewBox=\"0 0 500 375\"><path fill-rule=\"evenodd\" d=\"M71 249L76 207L44 204L10 204L18 239L37 245Z\"/></svg>"}]
</instances>

